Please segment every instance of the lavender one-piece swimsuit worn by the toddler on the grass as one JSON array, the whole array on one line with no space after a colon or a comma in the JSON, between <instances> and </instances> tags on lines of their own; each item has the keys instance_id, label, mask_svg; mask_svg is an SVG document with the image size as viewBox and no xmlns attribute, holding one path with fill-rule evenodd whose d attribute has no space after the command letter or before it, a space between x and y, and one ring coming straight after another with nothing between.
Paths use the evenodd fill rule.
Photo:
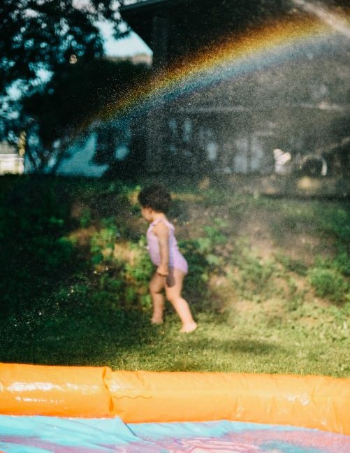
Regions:
<instances>
[{"instance_id":1,"label":"lavender one-piece swimsuit worn by the toddler on the grass","mask_svg":"<svg viewBox=\"0 0 350 453\"><path fill-rule=\"evenodd\" d=\"M158 222L163 222L169 229L169 268L180 269L180 271L187 273L187 261L180 253L179 248L177 247L177 240L174 236L175 227L165 219L154 220L154 222L152 222L152 224L150 224L150 227L148 227L147 229L147 248L152 263L155 266L159 266L159 264L161 264L161 253L159 250L158 238L153 233L153 227Z\"/></svg>"}]
</instances>

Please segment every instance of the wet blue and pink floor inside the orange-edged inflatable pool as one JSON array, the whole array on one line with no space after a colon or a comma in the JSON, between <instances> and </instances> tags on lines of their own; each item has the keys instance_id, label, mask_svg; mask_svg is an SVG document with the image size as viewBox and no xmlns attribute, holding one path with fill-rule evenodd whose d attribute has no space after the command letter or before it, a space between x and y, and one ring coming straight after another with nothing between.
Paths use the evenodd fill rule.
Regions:
<instances>
[{"instance_id":1,"label":"wet blue and pink floor inside the orange-edged inflatable pool","mask_svg":"<svg viewBox=\"0 0 350 453\"><path fill-rule=\"evenodd\" d=\"M240 422L124 424L0 415L2 453L350 453L350 436Z\"/></svg>"}]
</instances>

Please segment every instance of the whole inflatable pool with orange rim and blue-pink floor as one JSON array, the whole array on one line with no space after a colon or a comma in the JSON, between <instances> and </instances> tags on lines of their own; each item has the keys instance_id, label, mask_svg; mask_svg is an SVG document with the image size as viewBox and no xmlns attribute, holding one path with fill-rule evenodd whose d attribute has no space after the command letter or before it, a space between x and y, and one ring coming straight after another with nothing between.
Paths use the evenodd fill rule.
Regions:
<instances>
[{"instance_id":1,"label":"whole inflatable pool with orange rim and blue-pink floor","mask_svg":"<svg viewBox=\"0 0 350 453\"><path fill-rule=\"evenodd\" d=\"M0 364L0 452L350 453L350 379Z\"/></svg>"}]
</instances>

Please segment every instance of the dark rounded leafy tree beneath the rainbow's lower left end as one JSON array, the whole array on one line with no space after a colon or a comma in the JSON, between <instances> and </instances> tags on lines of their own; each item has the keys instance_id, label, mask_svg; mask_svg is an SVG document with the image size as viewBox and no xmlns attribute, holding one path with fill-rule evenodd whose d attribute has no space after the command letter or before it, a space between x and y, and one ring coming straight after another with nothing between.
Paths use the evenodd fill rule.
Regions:
<instances>
[{"instance_id":1,"label":"dark rounded leafy tree beneath the rainbow's lower left end","mask_svg":"<svg viewBox=\"0 0 350 453\"><path fill-rule=\"evenodd\" d=\"M99 116L133 87L145 83L149 66L99 59L77 62L22 99L22 124L27 124L27 156L37 171L59 159L74 141L75 131ZM82 134L83 135L83 134ZM72 138L73 137L73 138Z\"/></svg>"}]
</instances>

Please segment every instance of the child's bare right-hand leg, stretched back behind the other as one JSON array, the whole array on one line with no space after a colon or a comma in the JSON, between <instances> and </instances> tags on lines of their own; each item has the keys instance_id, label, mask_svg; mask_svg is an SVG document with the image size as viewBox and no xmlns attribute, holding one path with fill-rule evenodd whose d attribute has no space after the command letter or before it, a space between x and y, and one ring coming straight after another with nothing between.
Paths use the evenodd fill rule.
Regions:
<instances>
[{"instance_id":1,"label":"child's bare right-hand leg, stretched back behind the other","mask_svg":"<svg viewBox=\"0 0 350 453\"><path fill-rule=\"evenodd\" d=\"M171 287L166 286L166 297L172 303L182 321L181 332L189 333L197 329L197 324L191 315L189 304L181 296L184 273L180 269L173 269L173 273L173 284Z\"/></svg>"}]
</instances>

